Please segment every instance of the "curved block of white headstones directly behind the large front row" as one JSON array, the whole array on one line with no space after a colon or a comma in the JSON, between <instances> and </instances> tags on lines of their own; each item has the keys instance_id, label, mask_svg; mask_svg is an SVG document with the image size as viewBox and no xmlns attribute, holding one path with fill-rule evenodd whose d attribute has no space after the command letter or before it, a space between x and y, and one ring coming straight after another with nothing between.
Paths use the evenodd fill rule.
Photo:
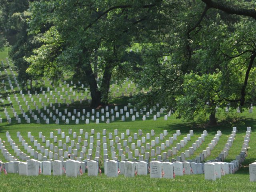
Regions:
<instances>
[{"instance_id":1,"label":"curved block of white headstones directly behind the large front row","mask_svg":"<svg viewBox=\"0 0 256 192\"><path fill-rule=\"evenodd\" d=\"M248 146L248 142L249 142L249 138L250 138L250 127L247 128L248 131L246 131L246 137L244 139L244 144L242 146L242 151L246 152L247 151L247 146ZM115 130L115 135L118 135L118 130ZM233 127L233 131L232 134L230 135L230 137L228 138L228 140L230 141L228 144L225 144L226 149L224 148L224 150L221 152L223 154L223 157L220 160L224 160L226 158L226 156L228 156L228 150L230 149L230 146L232 145L232 142L234 141L234 136L235 136L235 132L236 132L236 127ZM64 132L61 132L60 129L58 129L58 133L62 133L62 136L64 134ZM92 135L94 135L94 130L91 130ZM69 134L72 134L72 130L69 130ZM80 129L80 134L83 134L83 130ZM103 134L106 135L106 130L103 131ZM130 130L126 130L126 134L130 135ZM151 134L154 135L154 130L151 131ZM221 135L221 132L218 131L218 134ZM200 153L200 156L198 161L196 162L201 162L204 161L204 159L206 157L208 157L210 155L210 151L214 148L214 146L216 146L217 142L218 142L218 138L219 135L216 134L215 137L213 138L213 140L211 141L211 143L208 145L209 147L206 148L206 150L203 150L202 153ZM249 135L248 135L249 134ZM139 135L142 135L142 130L139 130ZM164 130L164 134L160 134L160 137L156 137L156 140L152 140L151 144L154 144L151 147L155 147L155 143L157 141L157 144L159 143L159 138L160 140L164 139L164 135L167 135L167 131ZM180 143L183 143L181 140L180 143L176 144L176 147L172 147L172 150L168 150L168 153L163 152L163 156L160 155L161 150L164 150L166 147L170 147L170 140L171 142L173 140L177 140L177 135L180 135L180 131L177 130L177 134L173 134L173 137L170 137L169 140L166 140L166 146L164 146L164 143L161 144L161 147L156 147L156 151L154 149L151 149L151 157L154 157L156 155L158 160L166 160L168 159L168 156L172 156L172 155L176 155L177 153L177 148L178 150L180 150L180 147L184 147L182 146ZM193 131L190 130L190 134L187 134L187 137L184 137L184 140L187 140L187 138L189 138L190 140L190 136L193 135ZM204 136L207 135L207 132L204 131L203 135L203 140L204 140ZM202 136L201 135L201 136ZM17 156L19 156L22 160L28 160L30 159L30 156L27 156L27 154L21 152L20 149L18 149L18 146L16 146L16 144L13 142L13 140L11 139L11 136L9 135L9 132L6 132L6 136L8 139L8 142L10 142L10 145L12 146L12 149L14 149L14 152L17 154ZM42 136L42 132L39 132L39 138L42 138L42 142L46 142L46 147L50 146L50 150L54 150L54 153L52 151L49 151L48 149L45 149L44 146L41 146L41 144L37 143L37 140L34 140L34 136L31 136L31 133L28 132L28 137L30 138L30 141L34 142L34 146L37 147L37 150L41 150L43 154L38 154L38 152L35 152L34 149L32 149L31 146L28 146L28 143L25 143L26 141L23 140L22 136L20 135L20 132L17 132L17 137L19 138L19 141L22 142L22 146L24 146L24 149L27 150L27 153L30 153L31 156L34 156L34 158L38 159L38 160L47 160L47 158L49 157L49 160L52 160L52 158L54 158L54 160L64 160L65 158L68 158L68 154L70 154L72 152L72 147L76 146L76 149L73 149L74 154L70 154L70 158L74 160L74 158L76 156L78 156L78 150L80 149L80 142L81 142L81 136L78 136L78 143L75 144L74 140L73 141L73 145L68 147L68 151L64 152L64 157L63 157L63 150L66 150L66 144L62 145L62 140L58 141L59 147L60 146L65 146L65 148L63 147L63 149L58 149L57 146L54 147L54 144L50 144L49 140L46 140L45 136ZM53 135L53 132L50 133L50 138L54 138L54 140L56 140L57 142L57 136ZM64 137L63 137L64 138ZM66 138L68 138L68 142L70 141L69 136L66 136ZM73 138L76 138L76 133L73 133ZM79 138L80 138L80 142L79 142ZM85 133L85 138L88 138L88 133ZM121 138L122 140L124 140L124 133L121 133ZM137 140L138 136L135 133L134 134L134 139ZM100 139L100 133L97 133L97 139ZM109 139L112 139L112 133L109 133ZM147 139L150 139L150 134L147 134ZM107 144L106 144L106 137L103 136L103 151L104 151L104 159L108 159L108 149L107 149ZM123 154L123 150L121 149L122 146L119 143L120 138L118 136L115 137L117 146L118 146L118 151L119 151L119 156L121 156L121 161L126 159L126 155ZM132 142L132 137L129 137L129 142ZM85 142L86 141L86 142ZM126 141L126 145L125 147L125 151L128 152L128 159L132 159L132 152L130 152L130 148L127 146L127 140ZM168 141L168 142L167 142ZM181 153L181 156L176 156L176 160L177 161L185 161L186 157L189 157L190 154L194 154L194 150L196 150L196 148L198 148L197 144L200 146L200 144L202 144L202 142L200 143L200 137L197 140L198 142L192 144L192 147L189 148L189 150L185 150L185 153ZM142 143L146 142L146 138L142 137ZM47 144L48 143L48 144ZM72 143L72 142L71 142ZM78 160L82 161L82 159L84 158L84 154L86 152L86 147L88 146L88 142L87 140L84 140L84 144L86 143L86 146L82 146L82 151L79 154L79 157L77 157ZM125 143L125 142L124 142ZM138 145L139 144L139 145ZM137 147L140 147L141 145L141 141L137 140ZM88 154L86 155L87 160L91 160L92 159L92 151L94 148L94 138L93 136L90 136L90 149L88 149ZM116 151L115 151L115 147L114 147L114 140L110 140L110 146L111 146L111 156L113 160L118 160L118 158L116 157ZM16 158L14 156L12 156L11 154L8 153L8 151L5 149L5 147L3 146L3 143L0 141L0 147L2 150L2 153L4 154L4 157L6 158L6 160L8 161L13 161L16 160ZM150 144L149 144L150 147ZM146 148L147 149L147 148ZM150 149L150 148L148 148ZM135 143L132 143L132 150L134 150L135 153L135 157L139 157L139 160L142 161L144 159L143 155L139 154L139 150L136 149ZM145 147L142 146L141 147L141 153L145 154L145 159L149 160L149 152L145 152ZM96 152L95 152L95 160L99 160L100 158L100 140L97 140L97 147L96 147ZM179 157L179 158L178 158ZM240 162L241 160L244 158L244 156L237 158ZM152 158L153 159L153 158ZM197 160L198 158L196 158L195 160ZM175 161L175 159L172 159ZM190 160L189 160L190 161Z\"/></svg>"}]
</instances>

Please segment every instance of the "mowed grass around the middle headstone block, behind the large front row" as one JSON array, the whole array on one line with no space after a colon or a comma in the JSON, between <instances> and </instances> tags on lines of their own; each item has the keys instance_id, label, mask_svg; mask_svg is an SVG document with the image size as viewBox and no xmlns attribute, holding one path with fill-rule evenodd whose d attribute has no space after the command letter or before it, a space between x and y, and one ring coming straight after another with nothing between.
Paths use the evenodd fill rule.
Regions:
<instances>
[{"instance_id":1,"label":"mowed grass around the middle headstone block, behind the large front row","mask_svg":"<svg viewBox=\"0 0 256 192\"><path fill-rule=\"evenodd\" d=\"M255 116L255 113L253 114L248 114L247 112L244 112L244 114L246 114L247 117L251 116ZM256 159L256 155L254 155L253 151L256 150L256 146L254 146L254 140L256 135L254 134L254 127L255 127L255 120L253 118L245 118L242 117L240 118L241 122L245 122L244 125L240 125L238 126L238 132L236 134L236 138L232 144L232 147L230 148L229 151L229 155L226 158L227 162L230 162L231 160L234 160L236 158L236 155L238 155L240 153L240 150L242 148L242 144L243 144L243 140L244 140L244 136L246 134L246 127L247 126L251 126L252 127L252 135L251 135L251 141L249 143L250 146L250 150L249 150L249 155L247 157L247 161L244 162L244 164L248 165L250 162L254 162L254 160ZM188 142L188 144L186 144L186 146L184 148L181 148L181 150L178 152L177 155L180 155L181 152L184 152L185 150L188 150L189 147L192 146L192 143L195 143L196 140L198 140L198 137L201 136L203 130L207 130L208 131L208 136L205 137L205 142L202 143L202 145L200 146L200 148L198 148L195 152L194 155L191 156L190 158L187 159L192 159L195 158L196 156L198 156L202 150L205 150L206 147L208 147L208 143L210 143L210 141L212 140L212 138L215 136L215 134L217 133L218 130L222 131L222 136L220 137L220 140L218 142L218 144L215 146L214 150L211 151L211 155L206 159L206 160L210 160L210 159L215 159L218 154L223 150L225 144L227 143L228 137L231 134L232 131L232 127L229 124L225 124L225 122L221 122L218 126L213 126L213 127L203 127L203 126L197 126L196 124L191 124L191 123L186 123L186 122L182 122L181 120L177 120L176 118L174 118L173 116L171 116L170 118L168 118L168 121L164 121L163 117L158 118L156 121L151 120L146 120L146 121L141 121L141 120L137 120L134 122L112 122L110 124L104 124L104 123L100 123L100 124L95 124L95 123L90 123L90 124L78 124L78 125L56 125L56 124L49 124L49 125L44 125L44 124L10 124L10 125L3 125L0 126L0 138L2 138L2 140L6 140L7 138L5 137L5 132L9 131L12 139L14 140L14 142L17 144L17 146L23 150L24 152L26 152L26 150L24 150L24 146L22 146L21 142L19 142L18 138L16 137L16 132L20 132L20 135L23 136L23 139L26 140L26 142L28 143L28 146L32 146L32 148L35 149L36 151L36 147L34 146L34 144L32 142L30 142L30 139L28 138L28 132L31 132L31 135L34 136L35 140L38 140L38 143L41 144L41 146L44 146L45 148L50 149L49 147L46 147L46 143L42 143L42 139L39 138L39 134L38 132L42 132L42 135L46 136L46 140L50 140L50 143L53 143L54 146L58 146L58 142L54 143L53 139L50 139L50 132L54 133L54 136L57 136L57 140L62 140L62 143L66 142L66 139L62 139L61 135L57 134L57 129L61 128L62 132L65 132L66 136L70 136L70 140L75 140L75 142L78 142L78 138L73 139L72 134L68 135L68 129L72 129L72 132L76 132L77 136L81 136L82 140L85 140L84 138L84 134L80 135L79 134L79 130L83 129L83 132L88 132L89 138L87 139L88 141L88 145L90 143L90 136L91 135L91 129L94 129L95 134L94 134L94 147L96 147L96 133L99 132L100 133L100 140L101 140L101 148L103 145L102 142L102 130L106 129L106 140L107 140L107 145L108 145L108 155L109 158L111 158L111 150L110 150L110 140L108 139L108 133L112 133L112 140L115 140L115 135L114 135L114 129L118 129L118 136L120 137L120 134L123 132L125 134L125 140L128 140L128 136L126 136L126 129L130 130L130 136L134 136L134 133L138 134L138 130L141 129L143 134L142 136L146 136L146 133L150 133L150 130L154 129L155 130L155 136L151 136L150 140L146 140L146 143L150 143L151 144L151 140L155 140L155 137L158 136L160 133L163 133L164 130L168 131L168 135L164 138L164 140L160 140L159 144L156 144L156 146L160 146L161 143L165 143L165 140L168 140L170 136L173 136L172 134L176 133L176 130L179 129L181 131L181 136L177 137L177 140L175 140L173 142L173 144L170 145L170 147L167 147L165 150L161 151L162 152L167 152L168 149L172 149L173 146L176 146L176 143L180 142L180 140L183 140L183 137L186 136L186 134L189 133L189 130L194 130L194 136L191 136L191 141ZM142 136L138 136L138 140L141 140ZM132 139L132 142L134 142L136 144L136 149L140 150L140 147L137 147L137 141ZM120 143L123 145L123 140L120 140ZM146 146L146 143L141 144L142 146ZM130 151L133 152L133 156L134 156L134 150L132 150L131 148L131 144L128 142L128 146L130 146ZM12 149L12 147L10 145L8 145L8 143L5 143L6 149L11 153L14 154L14 150ZM70 143L67 144L67 146L71 146ZM80 147L83 146L83 142L80 144ZM118 155L118 157L120 158L120 154L118 153L117 150L117 144L114 144L115 149L116 149L116 155ZM60 149L61 147L59 147ZM75 147L73 147L74 149ZM86 149L88 149L89 147L87 147ZM125 148L122 148L125 151ZM151 149L156 149L156 147L152 147ZM146 150L146 152L150 152L150 150ZM37 150L38 152L40 152L40 150ZM79 155L79 151L78 150L78 155ZM252 153L251 153L252 152ZM94 153L93 153L93 158L94 158ZM103 157L103 150L101 150L101 155ZM128 153L125 154L126 158L128 158ZM154 158L156 158L156 156L154 156ZM169 159L171 158L176 158L176 156L172 156L169 157ZM0 159L2 159L4 161L4 157L2 154L0 154Z\"/></svg>"}]
</instances>

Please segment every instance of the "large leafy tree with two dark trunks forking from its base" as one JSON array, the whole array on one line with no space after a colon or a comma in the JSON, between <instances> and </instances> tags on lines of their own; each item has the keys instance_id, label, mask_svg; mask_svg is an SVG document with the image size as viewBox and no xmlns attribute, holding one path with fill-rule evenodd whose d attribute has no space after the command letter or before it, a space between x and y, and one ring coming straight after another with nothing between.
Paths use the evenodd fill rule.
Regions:
<instances>
[{"instance_id":1,"label":"large leafy tree with two dark trunks forking from its base","mask_svg":"<svg viewBox=\"0 0 256 192\"><path fill-rule=\"evenodd\" d=\"M45 24L53 27L44 34L44 45L35 51L36 56L28 59L32 64L28 72L54 80L64 72L75 74L82 82L88 82L91 106L107 104L112 71L119 68L124 58L122 55L126 54L136 32L141 29L138 26L152 12L156 12L160 2L34 2L30 8L31 31L38 33ZM100 55L104 62L101 62L98 70L102 71L103 79L98 88L92 65Z\"/></svg>"}]
</instances>

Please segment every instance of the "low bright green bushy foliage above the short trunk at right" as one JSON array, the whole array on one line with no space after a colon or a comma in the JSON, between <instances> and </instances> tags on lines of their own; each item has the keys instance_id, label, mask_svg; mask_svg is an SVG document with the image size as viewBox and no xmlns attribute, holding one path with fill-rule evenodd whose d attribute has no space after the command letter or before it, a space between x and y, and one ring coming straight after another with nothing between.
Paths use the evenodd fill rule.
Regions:
<instances>
[{"instance_id":1,"label":"low bright green bushy foliage above the short trunk at right","mask_svg":"<svg viewBox=\"0 0 256 192\"><path fill-rule=\"evenodd\" d=\"M197 117L205 121L208 114L215 114L216 106L222 104L220 80L221 73L198 74L190 73L184 76L183 94L176 96L176 116L182 116L187 120ZM223 106L222 106L223 107Z\"/></svg>"}]
</instances>

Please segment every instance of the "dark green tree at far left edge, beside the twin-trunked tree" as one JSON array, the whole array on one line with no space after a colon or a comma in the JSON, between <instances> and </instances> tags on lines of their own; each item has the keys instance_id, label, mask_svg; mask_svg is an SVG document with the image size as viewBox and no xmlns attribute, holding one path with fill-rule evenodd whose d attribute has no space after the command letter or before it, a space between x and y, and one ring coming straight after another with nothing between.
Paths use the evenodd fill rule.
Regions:
<instances>
[{"instance_id":1,"label":"dark green tree at far left edge, beside the twin-trunked tree","mask_svg":"<svg viewBox=\"0 0 256 192\"><path fill-rule=\"evenodd\" d=\"M18 79L26 83L28 79L34 80L32 75L26 73L29 63L24 60L32 54L32 50L40 44L36 38L28 34L27 20L30 17L30 12L27 10L29 0L0 0L0 9L2 10L1 18L2 31L6 36L10 49L9 57L12 59L14 66L18 71ZM30 85L30 87L31 87Z\"/></svg>"}]
</instances>

